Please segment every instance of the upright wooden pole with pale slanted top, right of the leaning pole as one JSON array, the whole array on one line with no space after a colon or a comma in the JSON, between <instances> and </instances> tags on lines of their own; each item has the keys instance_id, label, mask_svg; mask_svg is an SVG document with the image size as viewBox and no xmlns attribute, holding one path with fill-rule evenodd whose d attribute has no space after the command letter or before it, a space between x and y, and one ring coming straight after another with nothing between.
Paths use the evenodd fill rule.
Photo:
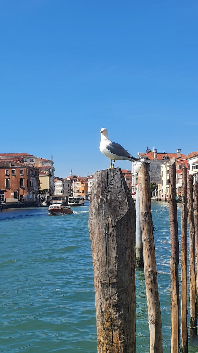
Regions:
<instances>
[{"instance_id":1,"label":"upright wooden pole with pale slanted top, right of the leaning pole","mask_svg":"<svg viewBox=\"0 0 198 353\"><path fill-rule=\"evenodd\" d=\"M179 238L176 197L175 157L169 161L168 189L171 231L171 353L179 352Z\"/></svg>"}]
</instances>

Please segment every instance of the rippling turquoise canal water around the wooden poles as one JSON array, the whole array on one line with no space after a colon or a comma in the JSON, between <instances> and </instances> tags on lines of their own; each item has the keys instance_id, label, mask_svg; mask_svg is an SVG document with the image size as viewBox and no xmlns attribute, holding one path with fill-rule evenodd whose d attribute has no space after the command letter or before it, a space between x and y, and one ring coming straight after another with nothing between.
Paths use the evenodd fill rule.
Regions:
<instances>
[{"instance_id":1,"label":"rippling turquoise canal water around the wooden poles","mask_svg":"<svg viewBox=\"0 0 198 353\"><path fill-rule=\"evenodd\" d=\"M152 202L163 352L170 352L168 203ZM180 223L181 204L178 204ZM180 231L179 231L180 233ZM0 213L0 352L97 353L88 202L72 215L46 208ZM146 290L136 272L136 352L149 352ZM198 352L198 341L189 343Z\"/></svg>"}]
</instances>

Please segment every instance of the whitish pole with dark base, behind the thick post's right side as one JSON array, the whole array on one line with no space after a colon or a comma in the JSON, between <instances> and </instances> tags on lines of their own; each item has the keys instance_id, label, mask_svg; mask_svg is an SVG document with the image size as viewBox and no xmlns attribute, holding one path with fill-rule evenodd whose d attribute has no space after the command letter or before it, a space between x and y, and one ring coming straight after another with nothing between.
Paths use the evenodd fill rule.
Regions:
<instances>
[{"instance_id":1,"label":"whitish pole with dark base, behind the thick post's right side","mask_svg":"<svg viewBox=\"0 0 198 353\"><path fill-rule=\"evenodd\" d=\"M140 225L140 198L138 185L136 187L136 268L144 266L143 262L143 246L142 231Z\"/></svg>"}]
</instances>

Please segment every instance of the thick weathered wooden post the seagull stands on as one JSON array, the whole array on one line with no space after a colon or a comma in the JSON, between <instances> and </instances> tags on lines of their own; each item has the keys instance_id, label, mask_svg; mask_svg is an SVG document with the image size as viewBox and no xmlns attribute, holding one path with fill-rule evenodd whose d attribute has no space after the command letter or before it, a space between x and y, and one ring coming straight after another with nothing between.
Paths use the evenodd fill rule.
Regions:
<instances>
[{"instance_id":1,"label":"thick weathered wooden post the seagull stands on","mask_svg":"<svg viewBox=\"0 0 198 353\"><path fill-rule=\"evenodd\" d=\"M120 168L94 173L89 204L98 353L135 353L135 204Z\"/></svg>"}]
</instances>

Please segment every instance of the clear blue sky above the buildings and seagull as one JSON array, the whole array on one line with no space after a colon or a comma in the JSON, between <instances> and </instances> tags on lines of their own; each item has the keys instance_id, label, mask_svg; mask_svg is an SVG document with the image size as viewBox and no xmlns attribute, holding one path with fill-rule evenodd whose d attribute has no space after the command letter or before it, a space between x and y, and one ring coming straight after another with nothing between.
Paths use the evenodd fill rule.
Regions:
<instances>
[{"instance_id":1,"label":"clear blue sky above the buildings and seagull","mask_svg":"<svg viewBox=\"0 0 198 353\"><path fill-rule=\"evenodd\" d=\"M196 1L1 0L0 27L1 153L67 177L110 167L101 127L133 156L198 150Z\"/></svg>"}]
</instances>

